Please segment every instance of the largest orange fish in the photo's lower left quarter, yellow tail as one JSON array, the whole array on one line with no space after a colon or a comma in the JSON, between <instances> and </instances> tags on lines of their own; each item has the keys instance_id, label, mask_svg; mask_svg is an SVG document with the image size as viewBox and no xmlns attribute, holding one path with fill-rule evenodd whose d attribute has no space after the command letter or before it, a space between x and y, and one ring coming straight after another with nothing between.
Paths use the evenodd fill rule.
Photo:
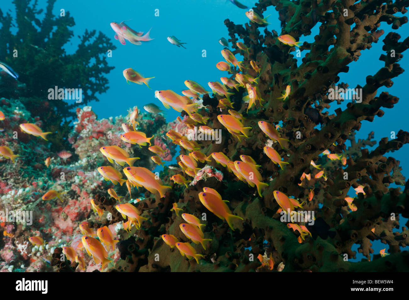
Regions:
<instances>
[{"instance_id":1,"label":"largest orange fish in the photo's lower left quarter, yellow tail","mask_svg":"<svg viewBox=\"0 0 409 300\"><path fill-rule=\"evenodd\" d=\"M159 192L160 198L163 198L166 191L171 189L167 185L162 185L162 180L144 167L126 167L123 171L132 184L144 187L151 193Z\"/></svg>"}]
</instances>

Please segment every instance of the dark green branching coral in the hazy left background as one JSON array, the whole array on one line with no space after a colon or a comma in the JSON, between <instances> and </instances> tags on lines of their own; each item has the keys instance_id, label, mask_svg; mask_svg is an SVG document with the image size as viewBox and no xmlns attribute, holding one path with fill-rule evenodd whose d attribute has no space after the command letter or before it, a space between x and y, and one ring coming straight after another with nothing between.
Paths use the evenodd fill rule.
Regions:
<instances>
[{"instance_id":1,"label":"dark green branching coral in the hazy left background","mask_svg":"<svg viewBox=\"0 0 409 300\"><path fill-rule=\"evenodd\" d=\"M104 74L114 67L108 66L106 49L116 49L110 39L95 30L85 30L78 49L67 54L64 45L73 37L70 27L75 25L69 11L64 16L52 13L55 0L49 0L45 12L35 1L14 0L16 19L9 12L0 10L0 61L9 64L19 75L19 82L25 84L20 96L32 116L39 116L47 131L58 131L50 135L53 150L67 147L69 127L67 118L75 116L72 108L85 105L92 100L99 101L97 93L108 89ZM38 19L45 14L43 21ZM17 32L14 33L15 29ZM82 89L82 102L75 100L49 100L48 89ZM2 90L2 96L15 96L14 87Z\"/></svg>"}]
</instances>

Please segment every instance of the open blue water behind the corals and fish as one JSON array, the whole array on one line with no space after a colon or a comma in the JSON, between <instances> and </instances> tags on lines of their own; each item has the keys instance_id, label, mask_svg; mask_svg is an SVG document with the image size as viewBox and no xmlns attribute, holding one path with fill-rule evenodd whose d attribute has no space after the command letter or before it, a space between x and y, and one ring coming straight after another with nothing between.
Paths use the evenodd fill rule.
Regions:
<instances>
[{"instance_id":1,"label":"open blue water behind the corals and fish","mask_svg":"<svg viewBox=\"0 0 409 300\"><path fill-rule=\"evenodd\" d=\"M242 0L243 4L252 6L253 0ZM45 7L46 1L39 0L39 7ZM11 9L13 13L13 4L9 0L2 0L1 8L3 12ZM244 9L235 7L231 2L225 0L161 0L161 1L83 1L83 0L57 0L54 5L55 15L60 14L60 9L69 11L74 17L76 25L71 30L74 31L74 37L71 42L65 45L68 54L74 53L79 43L78 36L82 36L85 29L96 29L106 36L112 38L112 42L117 49L113 51L112 58L108 58L110 66L115 66L106 77L109 80L107 93L99 95L99 102L90 102L88 105L97 113L99 118L108 118L110 116L126 115L127 109L137 105L140 109L144 104L153 102L161 109L164 109L159 100L154 97L155 90L171 89L180 93L187 89L184 80L190 79L202 84L207 88L207 82L220 80L226 73L216 69L216 63L223 60L220 51L223 46L218 43L221 37L229 38L224 20L229 18L236 24L245 24L248 18L245 16ZM155 16L155 9L159 10L159 16ZM280 33L280 21L278 12L273 7L267 9L264 16L271 14L268 25L269 30L276 30ZM398 14L399 16L399 14ZM63 17L62 17L63 18ZM42 20L43 18L40 18ZM126 42L121 45L119 41L114 40L114 31L110 27L110 22L121 22L132 19L126 24L136 31L147 32L150 28L151 38L154 40L143 42L141 46L136 46ZM302 37L301 41L312 42L314 36L318 33L319 24L312 29L312 35ZM360 59L357 62L349 64L348 73L339 73L341 82L348 82L350 88L355 88L357 84L364 86L365 77L374 75L384 62L378 60L382 51L382 40L391 30L391 25L382 22L382 29L385 33L380 37L377 44L373 43L369 50L361 51ZM404 40L409 33L408 24L404 24L398 30ZM182 47L176 47L166 40L167 36L175 36L182 42L186 42ZM1 46L0 46L1 47ZM206 57L202 57L203 51L206 51ZM106 49L108 51L108 49ZM307 51L301 52L301 58ZM405 55L405 54L404 54ZM297 58L301 63L301 58ZM409 66L408 56L399 62L401 67ZM149 89L145 85L127 84L122 76L122 71L126 68L133 68L145 77L155 76L151 80ZM391 131L398 133L400 129L408 130L407 116L409 108L405 101L407 100L407 73L397 78L393 78L393 86L389 89L383 87L378 89L377 96L382 91L387 91L400 98L394 109L383 109L385 115L382 119L375 117L374 122L362 121L362 127L357 132L356 138L367 138L370 131L375 132L375 140L380 141L383 137L389 137ZM346 103L342 102L340 107L346 108ZM333 103L330 113L333 113L338 106ZM166 110L166 120L173 121L179 113L173 109ZM319 128L319 126L318 126ZM347 143L348 145L348 143ZM376 147L377 145L375 145ZM407 159L408 145L404 145L399 151L388 153L386 156L393 156L400 160L400 166L403 168L402 174L407 178L409 176L409 160ZM175 161L173 161L174 163ZM157 168L160 170L161 168ZM155 171L157 171L155 170ZM394 187L394 185L392 185ZM354 191L348 193L349 196L355 196ZM407 220L402 222L401 226ZM387 248L389 246L386 246ZM375 241L373 249L375 254L384 248L384 244ZM356 250L356 249L353 249ZM357 255L357 260L360 260Z\"/></svg>"}]
</instances>

